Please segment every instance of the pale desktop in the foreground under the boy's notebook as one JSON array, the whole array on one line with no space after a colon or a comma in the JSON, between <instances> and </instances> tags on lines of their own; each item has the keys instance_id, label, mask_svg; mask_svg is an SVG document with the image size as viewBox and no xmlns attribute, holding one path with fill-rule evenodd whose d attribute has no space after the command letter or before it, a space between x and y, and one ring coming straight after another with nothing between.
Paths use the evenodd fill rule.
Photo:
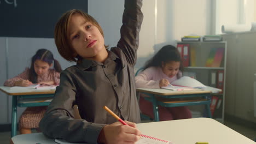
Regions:
<instances>
[{"instance_id":1,"label":"pale desktop in the foreground under the boy's notebook","mask_svg":"<svg viewBox=\"0 0 256 144\"><path fill-rule=\"evenodd\" d=\"M174 144L255 144L236 131L211 118L190 118L174 121L137 124L142 134L170 140ZM53 139L46 138L42 133L16 135L11 138L14 144L56 144Z\"/></svg>"}]
</instances>

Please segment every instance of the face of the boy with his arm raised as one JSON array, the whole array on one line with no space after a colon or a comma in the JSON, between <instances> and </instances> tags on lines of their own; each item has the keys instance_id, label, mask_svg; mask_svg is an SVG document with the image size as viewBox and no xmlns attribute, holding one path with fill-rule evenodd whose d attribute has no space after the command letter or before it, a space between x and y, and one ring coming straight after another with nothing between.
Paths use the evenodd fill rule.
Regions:
<instances>
[{"instance_id":1,"label":"face of the boy with his arm raised","mask_svg":"<svg viewBox=\"0 0 256 144\"><path fill-rule=\"evenodd\" d=\"M69 41L75 50L74 56L97 59L106 53L104 38L98 28L86 21L80 14L71 17L68 28Z\"/></svg>"}]
</instances>

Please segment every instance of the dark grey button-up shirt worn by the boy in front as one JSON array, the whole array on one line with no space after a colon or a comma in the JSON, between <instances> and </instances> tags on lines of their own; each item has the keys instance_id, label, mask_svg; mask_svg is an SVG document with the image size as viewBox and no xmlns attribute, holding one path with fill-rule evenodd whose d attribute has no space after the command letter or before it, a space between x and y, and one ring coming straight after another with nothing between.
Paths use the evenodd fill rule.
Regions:
<instances>
[{"instance_id":1,"label":"dark grey button-up shirt worn by the boy in front","mask_svg":"<svg viewBox=\"0 0 256 144\"><path fill-rule=\"evenodd\" d=\"M117 122L104 105L122 119L140 122L133 66L143 19L141 6L142 0L125 0L121 38L104 63L83 59L62 71L60 86L39 124L46 136L96 143L104 125ZM74 104L83 119L73 118Z\"/></svg>"}]
</instances>

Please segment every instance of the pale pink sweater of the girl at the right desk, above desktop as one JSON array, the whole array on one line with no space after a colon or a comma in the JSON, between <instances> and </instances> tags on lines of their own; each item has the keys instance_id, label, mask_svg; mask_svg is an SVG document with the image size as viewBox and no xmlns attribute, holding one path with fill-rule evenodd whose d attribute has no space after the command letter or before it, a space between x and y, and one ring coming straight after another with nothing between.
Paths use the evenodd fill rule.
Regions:
<instances>
[{"instance_id":1,"label":"pale pink sweater of the girl at the right desk, above desktop","mask_svg":"<svg viewBox=\"0 0 256 144\"><path fill-rule=\"evenodd\" d=\"M181 77L181 71L177 75ZM160 88L159 81L161 79L167 79L171 83L177 80L177 75L169 78L162 73L161 67L149 67L135 77L135 83L137 88Z\"/></svg>"}]
</instances>

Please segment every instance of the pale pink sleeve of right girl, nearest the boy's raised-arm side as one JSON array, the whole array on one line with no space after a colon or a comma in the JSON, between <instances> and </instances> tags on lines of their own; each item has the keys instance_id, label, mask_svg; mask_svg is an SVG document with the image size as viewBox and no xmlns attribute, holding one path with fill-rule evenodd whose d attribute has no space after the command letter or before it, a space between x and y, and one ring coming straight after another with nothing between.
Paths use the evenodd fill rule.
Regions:
<instances>
[{"instance_id":1,"label":"pale pink sleeve of right girl, nearest the boy's raised-arm side","mask_svg":"<svg viewBox=\"0 0 256 144\"><path fill-rule=\"evenodd\" d=\"M135 83L137 88L160 88L160 80L152 80L156 70L152 67L143 70L135 77Z\"/></svg>"}]
</instances>

